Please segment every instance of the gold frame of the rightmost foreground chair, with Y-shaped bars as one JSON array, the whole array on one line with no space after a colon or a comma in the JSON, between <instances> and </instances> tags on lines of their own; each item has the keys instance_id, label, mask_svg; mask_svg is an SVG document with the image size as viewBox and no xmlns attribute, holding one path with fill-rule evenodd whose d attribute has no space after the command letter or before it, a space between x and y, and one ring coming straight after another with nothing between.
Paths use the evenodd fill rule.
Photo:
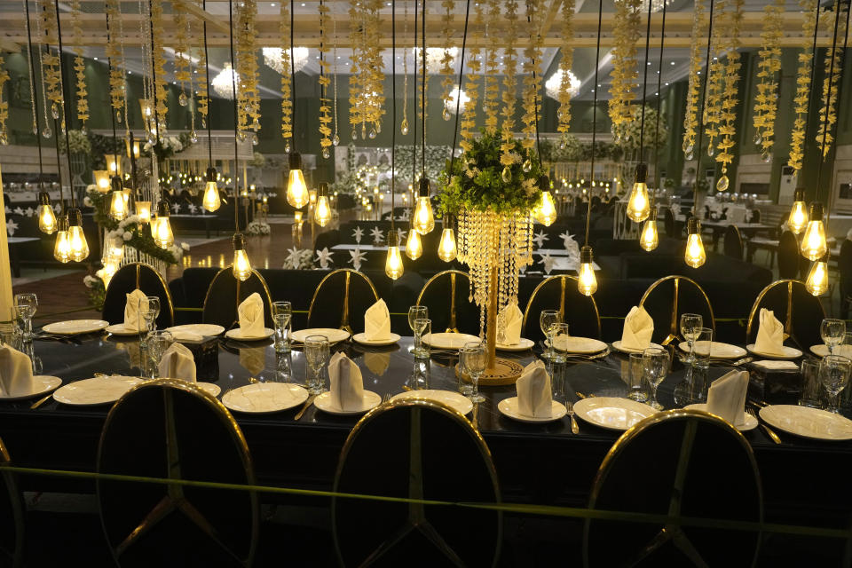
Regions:
<instances>
[{"instance_id":1,"label":"gold frame of the rightmost foreground chair, with Y-shaped bars","mask_svg":"<svg viewBox=\"0 0 852 568\"><path fill-rule=\"evenodd\" d=\"M636 423L629 430L627 430L621 437L616 440L615 444L612 445L610 451L607 452L604 457L604 461L601 462L601 467L597 470L597 474L595 476L595 483L592 485L592 492L589 495L588 508L595 509L595 504L600 496L600 492L602 486L604 485L604 481L606 477L610 474L611 469L614 466L614 463L618 459L619 455L624 452L624 448L627 447L635 438L640 436L643 431L648 430L652 426L659 424L660 422L667 422L670 420L677 419L689 419L690 422L687 423L686 429L683 433L683 440L681 444L681 453L679 455L677 461L677 470L675 472L675 485L672 489L672 493L669 499L669 507L668 507L668 516L680 518L681 517L681 506L682 506L682 493L683 486L686 483L686 474L689 465L689 457L692 452L693 443L695 441L695 434L698 427L698 422L708 422L713 423L714 425L722 428L723 430L727 430L730 435L737 440L738 444L742 447L742 449L746 452L748 456L748 461L752 466L752 472L754 474L754 479L757 482L757 491L758 491L758 503L760 506L760 521L763 521L763 489L761 482L761 472L757 468L757 461L754 459L754 452L752 450L752 446L749 445L746 437L743 436L742 432L737 430L730 422L722 420L719 416L715 414L710 414L708 412L702 410L687 410L685 408L676 408L674 410L667 410L663 412L659 412L644 419L642 422ZM587 518L584 523L583 529L583 565L588 567L588 537L589 537L589 529L591 527L591 519ZM673 541L676 548L678 548L685 556L688 556L692 563L695 566L706 566L706 562L698 555L698 550L696 550L692 543L689 540L682 530L680 523L675 521L675 523L671 525L663 526L657 535L648 542L648 544L642 550L638 551L638 555L631 564L638 564L643 560L646 556L651 554L657 548L663 546L668 541ZM757 563L757 557L760 553L760 542L761 542L761 533L758 532L757 538L757 546L754 548L754 556L752 559L752 565Z\"/></svg>"}]
</instances>

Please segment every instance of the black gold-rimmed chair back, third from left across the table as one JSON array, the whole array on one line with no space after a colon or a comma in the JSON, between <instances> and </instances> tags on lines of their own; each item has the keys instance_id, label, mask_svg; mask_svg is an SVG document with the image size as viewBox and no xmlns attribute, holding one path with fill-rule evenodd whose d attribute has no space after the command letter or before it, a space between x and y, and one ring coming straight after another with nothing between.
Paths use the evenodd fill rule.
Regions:
<instances>
[{"instance_id":1,"label":"black gold-rimmed chair back, third from left across the table","mask_svg":"<svg viewBox=\"0 0 852 568\"><path fill-rule=\"evenodd\" d=\"M308 308L308 327L340 327L350 333L364 330L364 312L379 301L373 281L351 268L328 272L320 280Z\"/></svg>"}]
</instances>

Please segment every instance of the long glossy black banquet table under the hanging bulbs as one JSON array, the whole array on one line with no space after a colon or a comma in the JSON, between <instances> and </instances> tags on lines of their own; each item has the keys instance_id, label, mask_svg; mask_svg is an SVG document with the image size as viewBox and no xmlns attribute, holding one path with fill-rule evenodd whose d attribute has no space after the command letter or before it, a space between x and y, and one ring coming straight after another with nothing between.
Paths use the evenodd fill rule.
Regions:
<instances>
[{"instance_id":1,"label":"long glossy black banquet table under the hanging bulbs","mask_svg":"<svg viewBox=\"0 0 852 568\"><path fill-rule=\"evenodd\" d=\"M85 335L62 341L37 339L34 343L43 374L57 375L65 383L89 378L96 372L139 373L134 359L138 359L136 341ZM410 337L385 348L347 341L335 345L333 351L345 351L360 367L364 388L379 395L395 395L418 387L459 388L454 373L457 354L436 351L430 359L415 360L410 352L412 344ZM535 357L533 351L500 355L521 364ZM556 399L576 401L578 392L585 396L623 396L627 386L621 377L626 367L627 356L617 351L603 359L569 362L564 367L564 380L554 383ZM710 377L718 377L731 368L714 365ZM223 339L218 345L217 367L199 367L199 374L199 380L217 383L223 393L248 384L249 377L265 382L304 383L304 354L295 349L290 356L277 355L268 341L258 344ZM209 378L205 378L207 374ZM673 393L683 375L682 366L675 362L672 373L659 388L663 406L676 406ZM486 401L477 406L472 421L491 450L504 501L585 506L596 471L619 433L578 420L580 433L572 434L567 416L540 425L514 422L497 410L502 398L515 395L514 387L482 390ZM65 406L50 399L31 409L32 402L0 403L0 438L16 465L93 471L109 406ZM296 407L276 414L233 414L248 441L259 484L329 490L341 448L358 417L323 414L311 406L296 422L294 417L299 410ZM846 490L845 481L841 485L825 481L829 472L852 470L852 443L821 443L778 432L783 444L776 445L762 429L744 434L761 470L768 521L848 524L852 495ZM32 491L93 491L90 482L67 477L25 475L22 485ZM269 495L262 498L273 499Z\"/></svg>"}]
</instances>

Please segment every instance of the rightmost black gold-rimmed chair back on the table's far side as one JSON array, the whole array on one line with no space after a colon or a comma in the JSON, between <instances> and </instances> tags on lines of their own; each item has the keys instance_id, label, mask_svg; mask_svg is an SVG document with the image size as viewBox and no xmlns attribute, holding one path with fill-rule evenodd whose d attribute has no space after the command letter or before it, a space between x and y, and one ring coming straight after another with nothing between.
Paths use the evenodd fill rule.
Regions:
<instances>
[{"instance_id":1,"label":"rightmost black gold-rimmed chair back on the table's far side","mask_svg":"<svg viewBox=\"0 0 852 568\"><path fill-rule=\"evenodd\" d=\"M775 312L778 321L784 322L785 334L801 351L823 343L819 335L820 324L825 318L823 304L808 292L801 280L777 280L761 290L748 315L746 344L754 343L757 337L761 308Z\"/></svg>"}]
</instances>

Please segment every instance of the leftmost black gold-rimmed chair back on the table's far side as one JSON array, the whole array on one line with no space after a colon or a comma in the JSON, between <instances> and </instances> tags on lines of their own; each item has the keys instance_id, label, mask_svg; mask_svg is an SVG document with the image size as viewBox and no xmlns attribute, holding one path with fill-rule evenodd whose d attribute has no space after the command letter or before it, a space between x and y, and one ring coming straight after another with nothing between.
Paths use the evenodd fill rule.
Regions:
<instances>
[{"instance_id":1,"label":"leftmost black gold-rimmed chair back on the table's far side","mask_svg":"<svg viewBox=\"0 0 852 568\"><path fill-rule=\"evenodd\" d=\"M171 292L166 280L162 279L160 272L145 263L124 264L115 272L109 280L104 296L104 308L101 317L111 324L124 321L124 306L127 304L127 295L135 289L142 290L146 296L157 296L160 298L160 315L157 316L157 327L171 327L175 325L175 308L171 302Z\"/></svg>"}]
</instances>

